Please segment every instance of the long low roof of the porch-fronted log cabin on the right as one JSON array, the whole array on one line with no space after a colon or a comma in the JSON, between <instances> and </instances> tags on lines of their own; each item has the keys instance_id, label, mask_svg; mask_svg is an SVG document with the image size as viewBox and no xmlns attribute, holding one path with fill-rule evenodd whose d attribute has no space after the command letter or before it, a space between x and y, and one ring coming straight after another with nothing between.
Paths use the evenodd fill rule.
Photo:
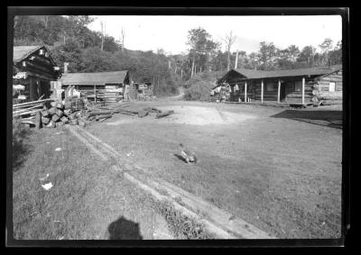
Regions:
<instances>
[{"instance_id":1,"label":"long low roof of the porch-fronted log cabin on the right","mask_svg":"<svg viewBox=\"0 0 361 255\"><path fill-rule=\"evenodd\" d=\"M329 67L315 67L315 68L299 68L288 70L276 70L276 71L263 71L254 69L237 68L232 69L222 77L225 79L231 72L236 72L245 79L253 78L272 78L272 77L308 77L308 76L322 76L333 73L342 69L341 65L335 65Z\"/></svg>"}]
</instances>

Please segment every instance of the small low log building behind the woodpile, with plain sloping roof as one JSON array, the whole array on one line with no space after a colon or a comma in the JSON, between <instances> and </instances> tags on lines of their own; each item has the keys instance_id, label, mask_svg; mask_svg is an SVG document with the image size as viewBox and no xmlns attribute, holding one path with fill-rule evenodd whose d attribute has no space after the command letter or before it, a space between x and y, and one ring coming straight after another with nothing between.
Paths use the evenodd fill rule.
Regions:
<instances>
[{"instance_id":1,"label":"small low log building behind the woodpile, with plain sloping roof","mask_svg":"<svg viewBox=\"0 0 361 255\"><path fill-rule=\"evenodd\" d=\"M97 73L63 73L62 88L74 86L83 96L92 100L116 102L124 99L124 93L131 83L127 70ZM126 87L126 88L125 88Z\"/></svg>"}]
</instances>

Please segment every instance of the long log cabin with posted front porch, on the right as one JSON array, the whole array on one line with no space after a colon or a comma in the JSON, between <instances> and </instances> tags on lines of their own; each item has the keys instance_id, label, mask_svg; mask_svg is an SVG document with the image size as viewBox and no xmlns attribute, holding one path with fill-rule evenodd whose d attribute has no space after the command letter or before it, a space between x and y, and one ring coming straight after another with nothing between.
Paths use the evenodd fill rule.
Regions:
<instances>
[{"instance_id":1,"label":"long log cabin with posted front porch, on the right","mask_svg":"<svg viewBox=\"0 0 361 255\"><path fill-rule=\"evenodd\" d=\"M275 101L308 104L320 100L342 103L342 66L263 71L232 69L213 88L229 86L227 101ZM214 97L214 96L213 96Z\"/></svg>"}]
</instances>

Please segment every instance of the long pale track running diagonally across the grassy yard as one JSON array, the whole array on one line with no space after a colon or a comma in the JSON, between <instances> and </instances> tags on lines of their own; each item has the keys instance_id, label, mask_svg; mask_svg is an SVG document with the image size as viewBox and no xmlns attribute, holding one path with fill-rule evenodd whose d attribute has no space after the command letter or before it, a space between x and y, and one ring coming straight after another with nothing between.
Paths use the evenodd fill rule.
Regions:
<instances>
[{"instance_id":1,"label":"long pale track running diagonally across the grassy yard","mask_svg":"<svg viewBox=\"0 0 361 255\"><path fill-rule=\"evenodd\" d=\"M106 144L105 142L98 139L96 136L92 135L91 133L85 131L84 129L80 129L79 127L69 127L72 133L77 132L76 136L81 137L81 141L84 141L86 145L89 146L91 150L102 150L107 154L111 155L110 158L122 159L122 155L120 155L116 150L114 150L111 146ZM75 131L77 130L77 131ZM81 134L80 134L81 132ZM97 149L95 146L97 146ZM95 151L96 152L96 151ZM96 152L97 153L97 152ZM125 160L129 163L130 160ZM143 170L134 163L131 163L131 166L125 166L125 169L131 170L132 167L138 168ZM121 168L114 166L114 168L124 172ZM143 172L145 172L143 170ZM171 184L168 184L164 180L160 182L156 182L152 179L148 179L146 184L142 181L134 178L134 176L130 175L128 172L124 172L125 178L132 181L133 183L137 184L138 187L142 187L143 190L151 193L156 199L158 200L168 200L170 201L177 209L183 214L189 214L199 222L204 223L208 231L215 233L218 238L221 239L234 239L234 238L244 238L244 239L269 239L274 238L270 234L263 232L256 228L254 225L245 223L245 221L236 218L235 216L219 209L215 205L211 205L208 202L201 200L197 196L193 196L190 193L181 190L179 187L174 187ZM161 195L157 189L165 190L168 196ZM181 192L180 192L181 191ZM172 195L170 195L172 194ZM175 198L180 197L182 198L182 203L184 205L180 205L175 201ZM204 219L204 216L199 216L199 214L194 213L193 211L202 212L203 215L208 215L207 219Z\"/></svg>"}]
</instances>

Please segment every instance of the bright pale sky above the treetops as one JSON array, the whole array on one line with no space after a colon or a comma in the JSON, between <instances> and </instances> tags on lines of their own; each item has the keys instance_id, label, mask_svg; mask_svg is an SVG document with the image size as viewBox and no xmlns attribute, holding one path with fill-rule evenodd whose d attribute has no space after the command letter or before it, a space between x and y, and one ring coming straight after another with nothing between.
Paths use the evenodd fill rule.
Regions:
<instances>
[{"instance_id":1,"label":"bright pale sky above the treetops","mask_svg":"<svg viewBox=\"0 0 361 255\"><path fill-rule=\"evenodd\" d=\"M342 19L339 15L314 16L92 16L96 18L88 28L120 39L125 30L125 48L129 50L165 50L168 54L187 52L190 29L202 27L215 41L230 31L236 35L232 51L257 51L261 41L273 42L280 49L296 45L317 47L330 38L334 45L342 39ZM223 44L221 50L225 50Z\"/></svg>"}]
</instances>

